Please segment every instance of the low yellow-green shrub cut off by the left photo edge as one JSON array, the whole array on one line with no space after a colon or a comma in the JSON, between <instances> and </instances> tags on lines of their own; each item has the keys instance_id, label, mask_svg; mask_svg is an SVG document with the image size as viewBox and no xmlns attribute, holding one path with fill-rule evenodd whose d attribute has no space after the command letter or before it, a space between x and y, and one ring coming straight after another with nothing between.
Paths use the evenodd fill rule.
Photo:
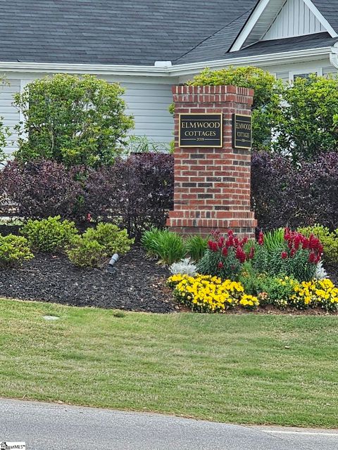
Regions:
<instances>
[{"instance_id":1,"label":"low yellow-green shrub cut off by the left photo edge","mask_svg":"<svg viewBox=\"0 0 338 450\"><path fill-rule=\"evenodd\" d=\"M23 236L0 235L0 266L14 266L34 258L28 241Z\"/></svg>"}]
</instances>

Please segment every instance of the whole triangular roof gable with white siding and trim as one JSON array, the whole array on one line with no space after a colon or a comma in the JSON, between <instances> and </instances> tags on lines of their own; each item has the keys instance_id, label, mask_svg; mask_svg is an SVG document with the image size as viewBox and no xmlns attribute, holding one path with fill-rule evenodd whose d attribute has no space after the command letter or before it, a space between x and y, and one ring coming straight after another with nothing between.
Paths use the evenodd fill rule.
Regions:
<instances>
[{"instance_id":1,"label":"whole triangular roof gable with white siding and trim","mask_svg":"<svg viewBox=\"0 0 338 450\"><path fill-rule=\"evenodd\" d=\"M238 51L263 39L284 39L318 32L338 36L311 0L260 0L230 51Z\"/></svg>"}]
</instances>

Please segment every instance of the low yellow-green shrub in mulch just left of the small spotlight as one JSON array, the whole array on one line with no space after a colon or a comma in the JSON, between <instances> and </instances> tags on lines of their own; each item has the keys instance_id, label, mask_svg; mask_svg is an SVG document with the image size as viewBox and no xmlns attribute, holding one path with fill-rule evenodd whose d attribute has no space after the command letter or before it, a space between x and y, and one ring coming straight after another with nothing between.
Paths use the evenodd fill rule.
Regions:
<instances>
[{"instance_id":1,"label":"low yellow-green shrub in mulch just left of the small spotlight","mask_svg":"<svg viewBox=\"0 0 338 450\"><path fill-rule=\"evenodd\" d=\"M83 236L74 239L72 248L67 250L67 255L70 262L78 267L101 267L108 258L104 245Z\"/></svg>"}]
</instances>

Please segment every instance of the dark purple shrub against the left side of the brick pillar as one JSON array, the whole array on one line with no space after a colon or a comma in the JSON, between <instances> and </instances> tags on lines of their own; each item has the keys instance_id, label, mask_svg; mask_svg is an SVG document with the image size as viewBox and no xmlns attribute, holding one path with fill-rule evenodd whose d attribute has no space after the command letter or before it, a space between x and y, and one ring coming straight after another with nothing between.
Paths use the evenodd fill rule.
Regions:
<instances>
[{"instance_id":1,"label":"dark purple shrub against the left side of the brick pillar","mask_svg":"<svg viewBox=\"0 0 338 450\"><path fill-rule=\"evenodd\" d=\"M173 155L144 153L89 171L84 181L84 209L94 220L119 217L130 236L165 226L173 208Z\"/></svg>"}]
</instances>

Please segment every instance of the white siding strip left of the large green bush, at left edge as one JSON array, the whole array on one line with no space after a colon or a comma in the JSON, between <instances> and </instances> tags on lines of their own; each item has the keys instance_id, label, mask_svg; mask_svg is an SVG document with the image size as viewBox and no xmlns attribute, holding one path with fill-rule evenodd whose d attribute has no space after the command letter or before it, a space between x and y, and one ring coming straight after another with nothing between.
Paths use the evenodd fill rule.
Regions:
<instances>
[{"instance_id":1,"label":"white siding strip left of the large green bush, at left edge","mask_svg":"<svg viewBox=\"0 0 338 450\"><path fill-rule=\"evenodd\" d=\"M7 139L7 146L5 148L6 153L11 153L16 148L16 141L18 135L16 134L14 127L19 122L19 113L16 110L13 103L13 94L20 92L20 79L7 79L8 84L0 85L0 116L4 117L4 125L9 127L9 131L12 135Z\"/></svg>"}]
</instances>

